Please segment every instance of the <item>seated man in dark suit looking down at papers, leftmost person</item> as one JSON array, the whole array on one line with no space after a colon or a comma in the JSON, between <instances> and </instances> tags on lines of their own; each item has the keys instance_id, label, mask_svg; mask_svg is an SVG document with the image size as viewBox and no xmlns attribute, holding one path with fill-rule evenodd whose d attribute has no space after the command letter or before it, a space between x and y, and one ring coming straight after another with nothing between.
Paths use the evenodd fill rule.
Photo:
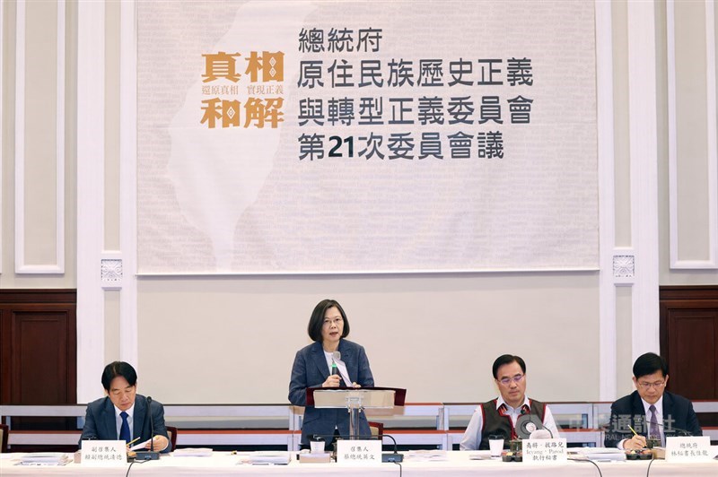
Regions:
<instances>
[{"instance_id":1,"label":"seated man in dark suit looking down at papers, leftmost person","mask_svg":"<svg viewBox=\"0 0 718 477\"><path fill-rule=\"evenodd\" d=\"M83 435L86 439L144 442L153 438L153 450L169 452L170 439L164 424L164 408L137 394L137 373L129 363L114 361L102 371L102 386L107 395L87 404ZM153 421L154 436L150 426ZM147 442L145 448L150 448Z\"/></svg>"}]
</instances>

